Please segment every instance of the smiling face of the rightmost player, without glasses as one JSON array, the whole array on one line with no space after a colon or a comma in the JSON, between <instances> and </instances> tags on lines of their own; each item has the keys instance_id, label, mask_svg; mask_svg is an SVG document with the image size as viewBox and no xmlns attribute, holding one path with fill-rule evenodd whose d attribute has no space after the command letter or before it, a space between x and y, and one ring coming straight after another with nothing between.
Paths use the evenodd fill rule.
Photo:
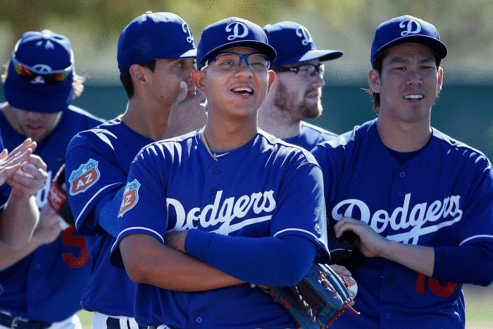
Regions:
<instances>
[{"instance_id":1,"label":"smiling face of the rightmost player, without glasses","mask_svg":"<svg viewBox=\"0 0 493 329\"><path fill-rule=\"evenodd\" d=\"M382 61L382 73L368 73L373 92L380 94L379 117L400 123L430 124L430 113L442 89L442 68L421 44L400 44Z\"/></svg>"}]
</instances>

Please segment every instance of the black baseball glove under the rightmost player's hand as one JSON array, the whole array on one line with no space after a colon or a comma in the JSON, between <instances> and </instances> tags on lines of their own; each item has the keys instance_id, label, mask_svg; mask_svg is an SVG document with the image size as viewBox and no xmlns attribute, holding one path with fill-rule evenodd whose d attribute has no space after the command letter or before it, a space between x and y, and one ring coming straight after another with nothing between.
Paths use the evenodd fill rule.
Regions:
<instances>
[{"instance_id":1,"label":"black baseball glove under the rightmost player's hand","mask_svg":"<svg viewBox=\"0 0 493 329\"><path fill-rule=\"evenodd\" d=\"M344 232L342 237L336 237L334 228L327 230L330 264L345 266L351 272L362 266L368 257L359 251L358 240L354 232Z\"/></svg>"}]
</instances>

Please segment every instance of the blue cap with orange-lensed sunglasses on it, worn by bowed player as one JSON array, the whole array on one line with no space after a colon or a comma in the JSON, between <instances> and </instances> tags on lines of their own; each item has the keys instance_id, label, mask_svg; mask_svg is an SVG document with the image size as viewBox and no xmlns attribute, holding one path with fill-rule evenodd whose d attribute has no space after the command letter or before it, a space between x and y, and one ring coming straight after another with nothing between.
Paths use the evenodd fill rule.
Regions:
<instances>
[{"instance_id":1,"label":"blue cap with orange-lensed sunglasses on it, worn by bowed player","mask_svg":"<svg viewBox=\"0 0 493 329\"><path fill-rule=\"evenodd\" d=\"M4 85L5 99L25 111L56 113L73 100L70 40L50 30L25 32L15 44Z\"/></svg>"}]
</instances>

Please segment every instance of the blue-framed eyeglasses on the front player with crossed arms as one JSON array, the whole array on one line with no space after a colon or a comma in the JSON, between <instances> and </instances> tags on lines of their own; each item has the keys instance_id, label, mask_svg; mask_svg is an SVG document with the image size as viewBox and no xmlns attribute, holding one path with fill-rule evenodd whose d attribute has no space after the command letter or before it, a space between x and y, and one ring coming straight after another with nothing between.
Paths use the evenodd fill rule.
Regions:
<instances>
[{"instance_id":1,"label":"blue-framed eyeglasses on the front player with crossed arms","mask_svg":"<svg viewBox=\"0 0 493 329\"><path fill-rule=\"evenodd\" d=\"M218 67L222 70L235 70L242 65L243 58L246 65L258 72L265 72L270 68L270 62L264 54L236 54L236 53L222 53L212 56L207 63L201 67L204 70L211 62L218 63Z\"/></svg>"}]
</instances>

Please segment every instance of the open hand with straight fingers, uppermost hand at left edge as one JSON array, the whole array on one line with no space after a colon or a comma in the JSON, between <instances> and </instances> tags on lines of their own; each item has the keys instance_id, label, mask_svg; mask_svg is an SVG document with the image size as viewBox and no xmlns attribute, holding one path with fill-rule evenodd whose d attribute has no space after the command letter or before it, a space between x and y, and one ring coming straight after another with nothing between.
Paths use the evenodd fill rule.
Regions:
<instances>
[{"instance_id":1,"label":"open hand with straight fingers, uppermost hand at left edge","mask_svg":"<svg viewBox=\"0 0 493 329\"><path fill-rule=\"evenodd\" d=\"M22 163L32 154L32 151L36 149L36 142L32 142L30 138L27 138L23 144L15 147L11 153L8 153L7 149L4 149L0 153L0 185L10 178L15 171L17 171Z\"/></svg>"}]
</instances>

